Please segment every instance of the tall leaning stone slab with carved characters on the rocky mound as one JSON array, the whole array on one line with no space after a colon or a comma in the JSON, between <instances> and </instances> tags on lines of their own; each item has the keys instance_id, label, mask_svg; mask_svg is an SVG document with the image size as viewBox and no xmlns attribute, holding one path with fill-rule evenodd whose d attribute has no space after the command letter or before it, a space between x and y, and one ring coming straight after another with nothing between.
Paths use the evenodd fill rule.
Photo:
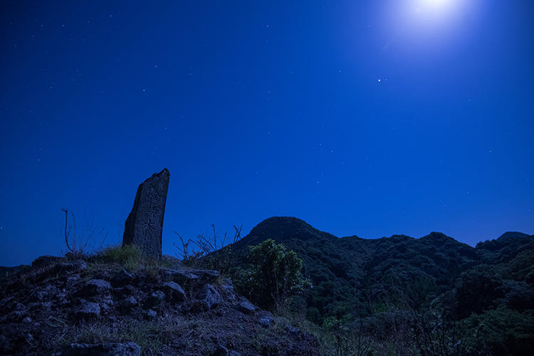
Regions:
<instances>
[{"instance_id":1,"label":"tall leaning stone slab with carved characters on the rocky mound","mask_svg":"<svg viewBox=\"0 0 534 356\"><path fill-rule=\"evenodd\" d=\"M138 246L145 257L162 256L163 216L170 175L169 169L164 168L139 184L132 212L125 222L122 246Z\"/></svg>"}]
</instances>

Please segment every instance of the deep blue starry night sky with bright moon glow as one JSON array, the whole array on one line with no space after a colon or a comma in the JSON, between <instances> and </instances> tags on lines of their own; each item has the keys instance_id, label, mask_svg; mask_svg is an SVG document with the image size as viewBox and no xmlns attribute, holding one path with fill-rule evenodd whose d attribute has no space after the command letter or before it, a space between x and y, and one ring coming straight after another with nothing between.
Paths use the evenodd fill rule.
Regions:
<instances>
[{"instance_id":1,"label":"deep blue starry night sky with bright moon glow","mask_svg":"<svg viewBox=\"0 0 534 356\"><path fill-rule=\"evenodd\" d=\"M269 216L534 234L534 3L422 1L2 1L0 265L65 251L61 207L119 243L163 167L164 253Z\"/></svg>"}]
</instances>

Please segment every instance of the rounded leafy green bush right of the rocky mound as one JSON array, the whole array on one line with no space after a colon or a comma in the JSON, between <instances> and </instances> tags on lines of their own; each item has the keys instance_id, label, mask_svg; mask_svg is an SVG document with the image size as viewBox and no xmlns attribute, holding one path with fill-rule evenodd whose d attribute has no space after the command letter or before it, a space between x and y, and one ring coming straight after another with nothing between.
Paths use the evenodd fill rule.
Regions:
<instances>
[{"instance_id":1,"label":"rounded leafy green bush right of the rocky mound","mask_svg":"<svg viewBox=\"0 0 534 356\"><path fill-rule=\"evenodd\" d=\"M272 239L250 246L247 258L248 267L234 271L236 287L263 308L280 308L286 298L308 286L302 260Z\"/></svg>"}]
</instances>

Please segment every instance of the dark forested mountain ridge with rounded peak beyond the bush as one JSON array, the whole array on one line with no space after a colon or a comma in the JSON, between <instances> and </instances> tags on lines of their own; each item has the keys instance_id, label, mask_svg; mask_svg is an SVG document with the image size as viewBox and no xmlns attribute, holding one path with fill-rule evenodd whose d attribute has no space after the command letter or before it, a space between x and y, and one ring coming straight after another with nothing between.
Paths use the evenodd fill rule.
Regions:
<instances>
[{"instance_id":1,"label":"dark forested mountain ridge with rounded peak beyond the bush","mask_svg":"<svg viewBox=\"0 0 534 356\"><path fill-rule=\"evenodd\" d=\"M533 237L507 232L476 247L439 232L420 239L337 238L294 217L272 217L234 248L238 266L246 263L246 246L266 239L298 253L303 274L312 283L303 295L307 318L320 324L332 316L362 318L385 310L413 310L444 293L462 295L454 308L463 317L490 306L532 308Z\"/></svg>"}]
</instances>

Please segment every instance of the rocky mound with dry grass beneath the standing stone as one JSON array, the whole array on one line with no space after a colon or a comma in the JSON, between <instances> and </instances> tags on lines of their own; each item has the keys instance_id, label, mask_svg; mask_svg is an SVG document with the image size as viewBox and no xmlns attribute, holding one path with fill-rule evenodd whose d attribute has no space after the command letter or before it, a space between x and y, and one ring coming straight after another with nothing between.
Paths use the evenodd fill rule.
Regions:
<instances>
[{"instance_id":1,"label":"rocky mound with dry grass beneath the standing stone","mask_svg":"<svg viewBox=\"0 0 534 356\"><path fill-rule=\"evenodd\" d=\"M0 287L0 355L316 355L315 337L217 271L135 248L41 256Z\"/></svg>"}]
</instances>

